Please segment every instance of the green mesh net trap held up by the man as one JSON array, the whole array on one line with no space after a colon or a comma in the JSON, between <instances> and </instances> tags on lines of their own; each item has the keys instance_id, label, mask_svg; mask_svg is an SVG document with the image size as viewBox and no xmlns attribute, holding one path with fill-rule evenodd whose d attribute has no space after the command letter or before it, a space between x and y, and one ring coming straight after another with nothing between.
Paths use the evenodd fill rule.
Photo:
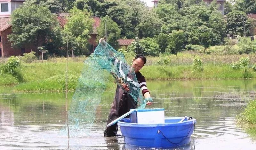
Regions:
<instances>
[{"instance_id":1,"label":"green mesh net trap held up by the man","mask_svg":"<svg viewBox=\"0 0 256 150\"><path fill-rule=\"evenodd\" d=\"M127 65L124 55L113 49L104 40L94 53L84 61L82 74L78 79L76 91L68 110L68 127L70 137L82 137L89 134L95 118L95 110L100 104L106 90L109 75L115 78L118 86L130 94L139 109L144 109L146 101L140 92L133 68ZM67 123L61 129L68 134Z\"/></svg>"}]
</instances>

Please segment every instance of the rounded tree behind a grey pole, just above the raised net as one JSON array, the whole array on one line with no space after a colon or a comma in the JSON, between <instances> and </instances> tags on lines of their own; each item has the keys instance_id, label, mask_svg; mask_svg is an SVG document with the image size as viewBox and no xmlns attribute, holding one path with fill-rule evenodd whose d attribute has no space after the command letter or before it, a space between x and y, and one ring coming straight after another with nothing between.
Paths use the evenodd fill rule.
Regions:
<instances>
[{"instance_id":1,"label":"rounded tree behind a grey pole, just above the raised net","mask_svg":"<svg viewBox=\"0 0 256 150\"><path fill-rule=\"evenodd\" d=\"M118 25L108 16L101 18L100 26L97 29L98 31L97 41L99 41L100 38L106 36L105 20L106 20L106 27L107 27L107 42L112 47L117 48L119 46L117 40L120 39L121 30L119 29Z\"/></svg>"}]
</instances>

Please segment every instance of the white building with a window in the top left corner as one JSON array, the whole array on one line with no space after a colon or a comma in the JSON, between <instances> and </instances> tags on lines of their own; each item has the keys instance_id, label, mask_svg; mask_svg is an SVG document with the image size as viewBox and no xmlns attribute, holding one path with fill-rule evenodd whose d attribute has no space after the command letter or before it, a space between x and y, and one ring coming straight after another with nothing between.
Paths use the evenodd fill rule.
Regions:
<instances>
[{"instance_id":1,"label":"white building with a window in the top left corner","mask_svg":"<svg viewBox=\"0 0 256 150\"><path fill-rule=\"evenodd\" d=\"M0 0L0 18L10 17L12 11L19 8L25 0Z\"/></svg>"}]
</instances>

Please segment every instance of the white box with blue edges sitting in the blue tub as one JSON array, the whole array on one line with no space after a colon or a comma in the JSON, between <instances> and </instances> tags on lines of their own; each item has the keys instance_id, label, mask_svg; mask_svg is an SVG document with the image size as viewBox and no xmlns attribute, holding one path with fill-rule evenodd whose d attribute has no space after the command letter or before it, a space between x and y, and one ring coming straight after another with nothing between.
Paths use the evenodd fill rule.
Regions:
<instances>
[{"instance_id":1,"label":"white box with blue edges sitting in the blue tub","mask_svg":"<svg viewBox=\"0 0 256 150\"><path fill-rule=\"evenodd\" d=\"M130 119L131 123L137 124L164 124L164 109L136 109L130 114Z\"/></svg>"}]
</instances>

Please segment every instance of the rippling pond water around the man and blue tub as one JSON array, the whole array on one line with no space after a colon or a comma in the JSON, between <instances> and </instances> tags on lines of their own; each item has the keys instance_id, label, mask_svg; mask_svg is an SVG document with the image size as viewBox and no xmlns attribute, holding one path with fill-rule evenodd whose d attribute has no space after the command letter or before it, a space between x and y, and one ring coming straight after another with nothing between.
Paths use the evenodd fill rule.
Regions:
<instances>
[{"instance_id":1,"label":"rippling pond water around the man and blue tub","mask_svg":"<svg viewBox=\"0 0 256 150\"><path fill-rule=\"evenodd\" d=\"M255 79L148 81L147 85L154 100L147 108L164 108L166 117L196 118L191 143L174 149L256 149L255 137L235 122L249 100L256 98ZM156 149L129 146L123 136L103 136L114 91L104 94L90 135L68 139L59 136L66 121L65 93L0 88L0 149ZM69 104L71 97L68 93Z\"/></svg>"}]
</instances>

